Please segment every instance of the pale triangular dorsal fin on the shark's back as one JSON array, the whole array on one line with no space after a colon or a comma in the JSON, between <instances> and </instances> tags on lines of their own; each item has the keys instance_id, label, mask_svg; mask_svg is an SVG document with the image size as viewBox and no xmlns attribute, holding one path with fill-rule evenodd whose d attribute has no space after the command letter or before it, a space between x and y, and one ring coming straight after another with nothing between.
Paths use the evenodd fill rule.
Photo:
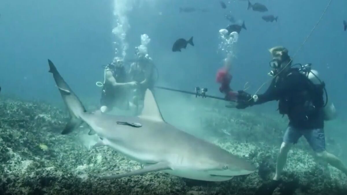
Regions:
<instances>
[{"instance_id":1,"label":"pale triangular dorsal fin on the shark's back","mask_svg":"<svg viewBox=\"0 0 347 195\"><path fill-rule=\"evenodd\" d=\"M164 122L164 119L161 116L160 110L158 108L158 104L156 104L154 95L149 89L146 90L145 99L143 102L143 110L139 117L158 122Z\"/></svg>"}]
</instances>

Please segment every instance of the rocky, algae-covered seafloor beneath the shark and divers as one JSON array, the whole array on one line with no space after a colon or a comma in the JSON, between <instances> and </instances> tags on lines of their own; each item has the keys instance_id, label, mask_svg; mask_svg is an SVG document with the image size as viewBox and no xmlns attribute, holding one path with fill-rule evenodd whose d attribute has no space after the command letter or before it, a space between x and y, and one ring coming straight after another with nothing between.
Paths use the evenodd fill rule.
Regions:
<instances>
[{"instance_id":1,"label":"rocky, algae-covered seafloor beneath the shark and divers","mask_svg":"<svg viewBox=\"0 0 347 195\"><path fill-rule=\"evenodd\" d=\"M206 128L219 129L215 144L256 164L250 175L204 182L154 172L101 180L98 176L141 165L108 147L88 149L80 138L87 129L61 135L67 117L48 104L0 99L0 194L260 194L260 187L273 177L283 133L278 129L285 128L278 120L248 112L204 120ZM289 153L283 183L273 194L346 195L346 176L317 162L309 149L301 142Z\"/></svg>"}]
</instances>

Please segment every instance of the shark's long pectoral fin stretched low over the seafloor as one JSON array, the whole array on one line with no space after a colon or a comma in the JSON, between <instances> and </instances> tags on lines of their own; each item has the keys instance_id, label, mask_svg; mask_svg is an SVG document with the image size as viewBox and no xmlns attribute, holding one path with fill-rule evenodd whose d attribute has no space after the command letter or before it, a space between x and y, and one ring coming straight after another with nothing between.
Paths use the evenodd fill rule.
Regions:
<instances>
[{"instance_id":1,"label":"shark's long pectoral fin stretched low over the seafloor","mask_svg":"<svg viewBox=\"0 0 347 195\"><path fill-rule=\"evenodd\" d=\"M118 175L111 175L111 176L104 176L101 177L101 179L118 179L122 177L129 177L129 176L134 176L134 175L142 175L144 173L149 173L149 172L155 172L155 171L161 171L165 169L171 169L166 162L158 162L156 164L151 164L148 166L145 166L143 169L137 169L134 171L130 171L127 173L121 173Z\"/></svg>"}]
</instances>

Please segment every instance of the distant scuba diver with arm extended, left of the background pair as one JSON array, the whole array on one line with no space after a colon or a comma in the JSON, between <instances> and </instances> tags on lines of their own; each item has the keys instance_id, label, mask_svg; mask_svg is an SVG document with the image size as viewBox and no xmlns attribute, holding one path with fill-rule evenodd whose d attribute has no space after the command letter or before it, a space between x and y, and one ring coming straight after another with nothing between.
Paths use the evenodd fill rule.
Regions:
<instances>
[{"instance_id":1,"label":"distant scuba diver with arm extended, left of the background pair","mask_svg":"<svg viewBox=\"0 0 347 195\"><path fill-rule=\"evenodd\" d=\"M123 60L117 59L116 63L111 63L105 67L104 83L96 83L96 85L102 86L101 112L108 112L114 106L122 110L129 109L129 88L136 88L138 83L126 81L127 74Z\"/></svg>"}]
</instances>

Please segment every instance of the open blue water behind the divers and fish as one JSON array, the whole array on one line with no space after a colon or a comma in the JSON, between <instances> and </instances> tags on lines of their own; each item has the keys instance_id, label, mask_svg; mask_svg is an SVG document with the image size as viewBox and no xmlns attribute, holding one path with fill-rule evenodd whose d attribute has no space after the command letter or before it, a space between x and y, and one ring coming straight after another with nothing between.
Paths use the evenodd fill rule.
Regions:
<instances>
[{"instance_id":1,"label":"open blue water behind the divers and fish","mask_svg":"<svg viewBox=\"0 0 347 195\"><path fill-rule=\"evenodd\" d=\"M133 8L125 15L130 24L126 33L127 58L134 57L140 36L148 34L148 50L159 69L159 85L182 90L208 87L211 95L222 96L215 73L225 58L218 52L219 29L229 25L225 14L231 13L238 22L245 21L247 27L235 45L231 87L242 89L249 82L249 92L255 92L270 79L268 49L283 45L294 55L328 0L259 0L269 9L265 14L278 16L278 23L266 23L261 19L265 14L247 10L247 1L243 0L225 1L227 9L211 0L131 2ZM112 29L117 18L113 5L113 0L0 1L1 93L29 100L61 101L48 73L47 59L51 59L77 94L98 100L100 88L95 82L103 80L101 66L116 57L113 42L117 40ZM179 7L206 8L209 12L179 13ZM295 63L313 63L319 71L341 121L345 121L347 109L347 32L342 24L347 19L346 7L347 1L333 0L294 58ZM180 53L171 51L176 39L191 36L194 47L188 45ZM275 106L269 103L260 109L273 111Z\"/></svg>"}]
</instances>

